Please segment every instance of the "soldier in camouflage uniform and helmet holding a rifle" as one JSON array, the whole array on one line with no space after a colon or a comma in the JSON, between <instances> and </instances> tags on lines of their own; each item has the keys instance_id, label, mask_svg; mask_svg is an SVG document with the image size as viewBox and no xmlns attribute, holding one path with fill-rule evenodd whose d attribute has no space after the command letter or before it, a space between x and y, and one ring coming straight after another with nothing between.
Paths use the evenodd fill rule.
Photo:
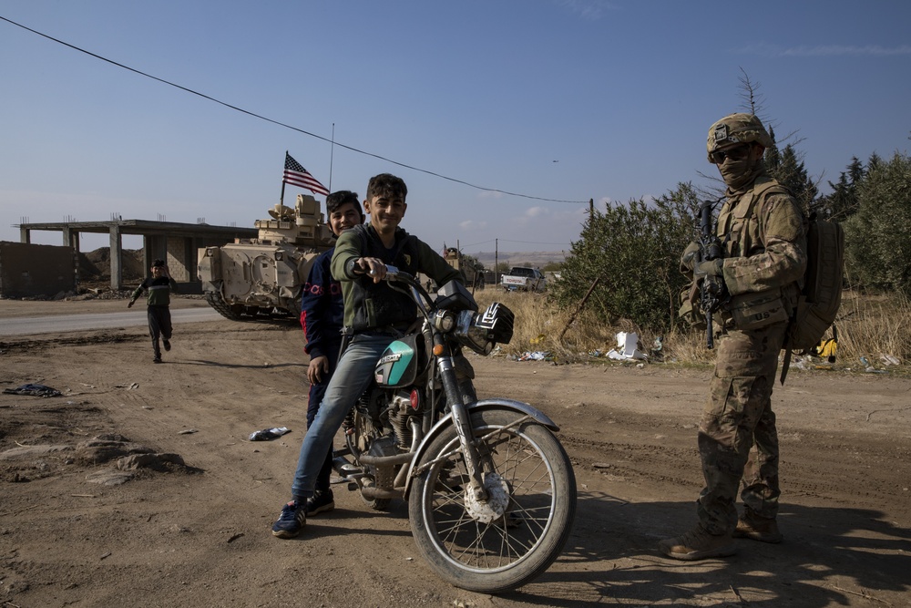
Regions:
<instances>
[{"instance_id":1,"label":"soldier in camouflage uniform and helmet holding a rifle","mask_svg":"<svg viewBox=\"0 0 911 608\"><path fill-rule=\"evenodd\" d=\"M699 523L659 545L679 560L732 555L734 537L782 541L772 388L806 268L806 222L793 196L765 171L763 151L771 145L751 114L732 114L709 129L709 161L727 185L715 232L724 254L697 262L698 245L691 243L681 271L695 281L714 277L728 298L715 315L722 335L699 428Z\"/></svg>"}]
</instances>

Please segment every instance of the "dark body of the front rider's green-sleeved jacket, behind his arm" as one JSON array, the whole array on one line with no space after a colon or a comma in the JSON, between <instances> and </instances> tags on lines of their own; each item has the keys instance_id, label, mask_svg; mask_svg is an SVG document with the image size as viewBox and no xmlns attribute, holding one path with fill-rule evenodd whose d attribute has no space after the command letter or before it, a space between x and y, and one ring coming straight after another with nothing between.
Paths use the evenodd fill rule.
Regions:
<instances>
[{"instance_id":1,"label":"dark body of the front rider's green-sleeved jacket, behind his arm","mask_svg":"<svg viewBox=\"0 0 911 608\"><path fill-rule=\"evenodd\" d=\"M409 274L418 272L417 237L401 230L396 231L395 244L386 249L378 237L371 235L367 227L358 224L352 228L361 239L361 257L379 258L385 264L395 266ZM400 237L404 234L404 237ZM374 283L369 276L361 276L353 281L352 287L354 318L351 332L365 330L382 330L390 327L401 328L410 324L417 316L414 301L406 295L394 291L389 283Z\"/></svg>"}]
</instances>

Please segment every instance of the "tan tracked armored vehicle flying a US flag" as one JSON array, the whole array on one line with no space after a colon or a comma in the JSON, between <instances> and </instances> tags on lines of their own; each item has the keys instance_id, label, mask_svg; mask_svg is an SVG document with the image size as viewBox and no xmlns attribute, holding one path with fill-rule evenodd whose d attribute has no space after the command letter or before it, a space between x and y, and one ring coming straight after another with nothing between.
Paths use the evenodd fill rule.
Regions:
<instances>
[{"instance_id":1,"label":"tan tracked armored vehicle flying a US flag","mask_svg":"<svg viewBox=\"0 0 911 608\"><path fill-rule=\"evenodd\" d=\"M231 320L296 319L313 260L334 245L312 196L298 194L294 209L277 204L269 215L271 219L253 224L257 238L199 250L202 292L212 308Z\"/></svg>"}]
</instances>

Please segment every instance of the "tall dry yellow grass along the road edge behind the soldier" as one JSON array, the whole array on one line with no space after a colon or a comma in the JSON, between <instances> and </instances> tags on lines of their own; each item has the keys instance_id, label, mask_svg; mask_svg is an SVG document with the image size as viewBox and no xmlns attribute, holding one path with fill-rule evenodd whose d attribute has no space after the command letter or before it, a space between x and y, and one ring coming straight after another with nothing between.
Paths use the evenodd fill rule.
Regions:
<instances>
[{"instance_id":1,"label":"tall dry yellow grass along the road edge behind the soldier","mask_svg":"<svg viewBox=\"0 0 911 608\"><path fill-rule=\"evenodd\" d=\"M658 335L630 322L606 325L584 310L568 326L570 313L560 311L541 294L504 292L488 288L475 294L478 304L506 304L516 314L516 329L512 342L503 349L510 354L528 351L547 351L559 361L589 360L589 353L606 354L617 345L618 332L636 332L640 348L648 353ZM856 366L865 356L877 367L885 366L884 357L896 357L903 367L911 360L911 301L889 295L864 295L846 290L842 309L835 325L838 327L838 362ZM564 333L565 330L565 333ZM561 338L562 334L562 338ZM699 332L676 330L660 336L661 355L666 361L682 365L706 365L714 360L705 347L705 335Z\"/></svg>"}]
</instances>

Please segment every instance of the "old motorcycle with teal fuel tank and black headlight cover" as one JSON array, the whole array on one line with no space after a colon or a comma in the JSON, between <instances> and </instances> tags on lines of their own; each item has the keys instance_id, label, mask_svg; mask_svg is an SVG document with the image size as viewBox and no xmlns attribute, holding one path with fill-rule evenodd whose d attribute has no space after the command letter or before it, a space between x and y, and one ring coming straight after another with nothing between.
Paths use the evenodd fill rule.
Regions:
<instances>
[{"instance_id":1,"label":"old motorcycle with teal fuel tank and black headlight cover","mask_svg":"<svg viewBox=\"0 0 911 608\"><path fill-rule=\"evenodd\" d=\"M479 312L455 281L431 296L393 266L385 280L420 314L380 357L333 468L374 510L407 501L417 549L446 582L515 589L563 550L576 479L550 418L512 399L476 398L463 348L486 356L508 344L514 315L498 303Z\"/></svg>"}]
</instances>

